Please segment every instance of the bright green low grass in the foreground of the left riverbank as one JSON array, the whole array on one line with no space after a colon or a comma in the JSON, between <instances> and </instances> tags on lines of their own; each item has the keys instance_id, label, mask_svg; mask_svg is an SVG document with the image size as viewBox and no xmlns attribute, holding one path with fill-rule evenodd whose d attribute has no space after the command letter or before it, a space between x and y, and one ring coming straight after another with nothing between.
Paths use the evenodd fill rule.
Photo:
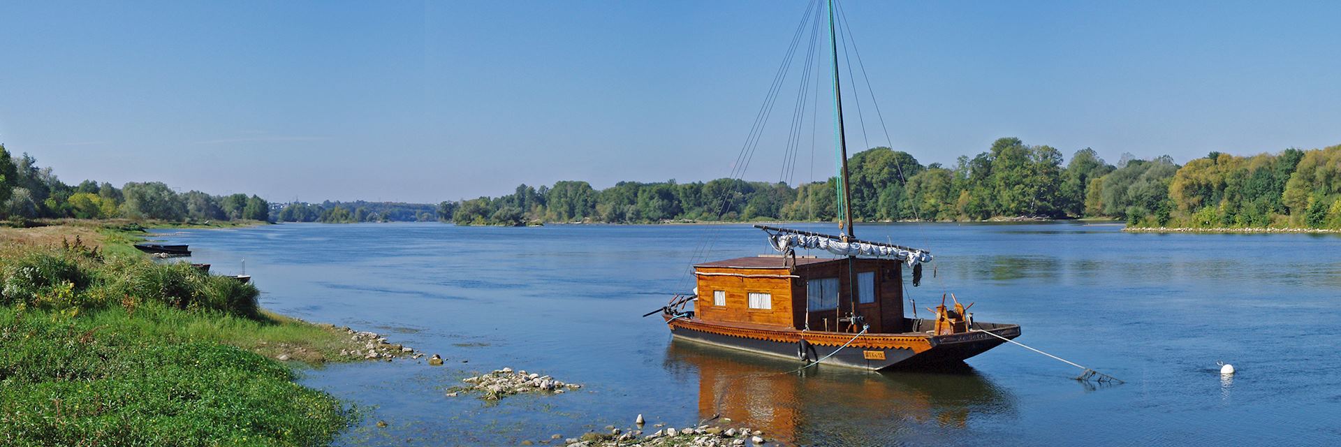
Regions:
<instances>
[{"instance_id":1,"label":"bright green low grass in the foreground of the left riverbank","mask_svg":"<svg viewBox=\"0 0 1341 447\"><path fill-rule=\"evenodd\" d=\"M0 309L0 444L329 443L351 417L339 401L216 341L256 328L166 307L79 317Z\"/></svg>"}]
</instances>

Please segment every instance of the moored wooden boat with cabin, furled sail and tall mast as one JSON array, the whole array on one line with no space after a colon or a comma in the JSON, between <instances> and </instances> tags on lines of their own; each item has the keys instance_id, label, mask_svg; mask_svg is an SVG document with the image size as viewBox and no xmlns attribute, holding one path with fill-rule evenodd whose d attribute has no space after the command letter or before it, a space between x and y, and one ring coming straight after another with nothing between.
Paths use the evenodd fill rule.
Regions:
<instances>
[{"instance_id":1,"label":"moored wooden boat with cabin, furled sail and tall mast","mask_svg":"<svg viewBox=\"0 0 1341 447\"><path fill-rule=\"evenodd\" d=\"M904 267L912 267L917 286L921 264L932 260L931 252L854 236L852 208L846 205L852 200L833 0L827 1L827 12L842 232L833 236L755 226L768 234L778 254L693 266L695 291L673 297L660 310L670 333L676 338L793 357L807 365L864 369L961 364L1019 337L1018 325L974 321L968 313L972 303L964 306L953 295L949 295L952 306L947 306L943 295L935 310L928 309L932 318L916 318L916 309L912 318L905 317ZM839 256L798 256L795 248L825 250ZM689 302L695 302L693 310L685 309Z\"/></svg>"}]
</instances>

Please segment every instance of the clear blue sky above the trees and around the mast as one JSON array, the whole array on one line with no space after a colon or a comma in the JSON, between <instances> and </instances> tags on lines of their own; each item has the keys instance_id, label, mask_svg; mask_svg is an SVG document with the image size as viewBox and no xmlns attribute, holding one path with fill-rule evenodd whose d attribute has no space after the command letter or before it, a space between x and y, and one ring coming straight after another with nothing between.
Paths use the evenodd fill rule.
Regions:
<instances>
[{"instance_id":1,"label":"clear blue sky above the trees and around the mast","mask_svg":"<svg viewBox=\"0 0 1341 447\"><path fill-rule=\"evenodd\" d=\"M843 7L894 149L924 164L1006 136L1110 162L1341 144L1341 1ZM0 142L67 183L280 201L709 180L731 172L805 8L5 1ZM746 179L779 180L789 101ZM797 180L833 172L826 138Z\"/></svg>"}]
</instances>

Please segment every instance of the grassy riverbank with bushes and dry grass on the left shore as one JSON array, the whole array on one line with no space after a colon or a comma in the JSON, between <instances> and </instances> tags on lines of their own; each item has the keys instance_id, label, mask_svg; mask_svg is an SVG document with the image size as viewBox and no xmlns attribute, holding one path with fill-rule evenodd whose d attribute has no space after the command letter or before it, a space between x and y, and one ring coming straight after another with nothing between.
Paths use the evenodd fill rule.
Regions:
<instances>
[{"instance_id":1,"label":"grassy riverbank with bushes and dry grass on the left shore","mask_svg":"<svg viewBox=\"0 0 1341 447\"><path fill-rule=\"evenodd\" d=\"M117 248L142 236L0 228L0 444L314 446L346 427L275 358L363 346L259 309L252 285Z\"/></svg>"}]
</instances>

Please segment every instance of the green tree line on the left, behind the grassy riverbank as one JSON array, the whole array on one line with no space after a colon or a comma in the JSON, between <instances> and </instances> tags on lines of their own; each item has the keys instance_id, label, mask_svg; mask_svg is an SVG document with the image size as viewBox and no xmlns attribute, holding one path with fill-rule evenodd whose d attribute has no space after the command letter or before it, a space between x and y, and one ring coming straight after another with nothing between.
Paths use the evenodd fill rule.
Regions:
<instances>
[{"instance_id":1,"label":"green tree line on the left, behind the grassy riverbank","mask_svg":"<svg viewBox=\"0 0 1341 447\"><path fill-rule=\"evenodd\" d=\"M51 168L24 153L19 158L0 144L0 217L4 219L157 219L170 221L270 220L270 203L255 195L178 193L160 181L60 181Z\"/></svg>"}]
</instances>

